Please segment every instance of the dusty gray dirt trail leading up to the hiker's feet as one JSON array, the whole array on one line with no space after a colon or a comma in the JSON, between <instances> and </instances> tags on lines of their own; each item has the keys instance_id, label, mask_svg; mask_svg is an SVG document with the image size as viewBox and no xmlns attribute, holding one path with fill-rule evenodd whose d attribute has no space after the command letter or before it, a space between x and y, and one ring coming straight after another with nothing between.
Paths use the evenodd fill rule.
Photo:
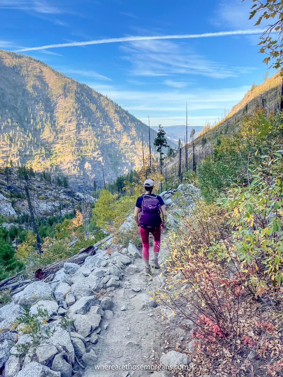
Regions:
<instances>
[{"instance_id":1,"label":"dusty gray dirt trail leading up to the hiker's feet","mask_svg":"<svg viewBox=\"0 0 283 377\"><path fill-rule=\"evenodd\" d=\"M159 263L168 255L165 239L166 235L161 239L161 250L158 256ZM151 260L152 247L149 253ZM121 281L120 287L116 288L111 297L115 304L114 308L112 308L114 316L109 320L108 328L98 334L97 343L91 347L98 356L95 365L152 365L152 358L159 360L161 356L163 331L154 316L155 309L152 307L137 308L143 302L143 295L151 291L152 282L148 282L149 284L146 282L143 260L136 258L134 264L138 267L139 272L130 273L128 272L128 267L124 270L125 276ZM156 273L152 275L152 278L154 279L154 284L159 282L159 277ZM140 291L135 292L132 288L140 288ZM134 297L137 297L136 300L138 301L135 305L132 302ZM126 307L125 311L120 309L123 306ZM103 328L103 322L100 327ZM152 350L156 353L152 352ZM82 374L83 377L149 377L150 375L152 374L145 370L95 370L92 366L85 369Z\"/></svg>"}]
</instances>

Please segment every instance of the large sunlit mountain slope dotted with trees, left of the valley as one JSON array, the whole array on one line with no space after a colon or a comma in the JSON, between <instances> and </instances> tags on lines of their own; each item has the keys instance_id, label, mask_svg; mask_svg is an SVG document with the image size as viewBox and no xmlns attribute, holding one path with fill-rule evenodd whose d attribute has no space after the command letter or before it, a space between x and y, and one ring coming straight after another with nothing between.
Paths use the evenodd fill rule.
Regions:
<instances>
[{"instance_id":1,"label":"large sunlit mountain slope dotted with trees, left of the valley","mask_svg":"<svg viewBox=\"0 0 283 377\"><path fill-rule=\"evenodd\" d=\"M102 161L106 181L140 165L141 135L148 153L148 127L117 103L39 60L0 50L0 165L12 159L62 172L80 188L102 181Z\"/></svg>"}]
</instances>

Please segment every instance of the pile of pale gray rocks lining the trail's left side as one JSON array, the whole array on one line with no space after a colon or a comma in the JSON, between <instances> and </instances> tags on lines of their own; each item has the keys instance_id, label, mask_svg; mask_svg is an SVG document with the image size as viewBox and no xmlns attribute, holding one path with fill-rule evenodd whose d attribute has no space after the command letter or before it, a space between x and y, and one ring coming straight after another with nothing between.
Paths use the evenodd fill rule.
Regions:
<instances>
[{"instance_id":1,"label":"pile of pale gray rocks lining the trail's left side","mask_svg":"<svg viewBox=\"0 0 283 377\"><path fill-rule=\"evenodd\" d=\"M94 365L97 356L92 344L113 317L112 291L119 287L125 266L141 257L132 244L122 250L118 245L111 248L111 254L98 250L81 266L65 263L50 282L32 282L0 308L2 375L71 377L78 365ZM40 318L40 333L49 336L40 344L17 322L25 313L24 307L30 308L33 318L42 313L47 317Z\"/></svg>"}]
</instances>

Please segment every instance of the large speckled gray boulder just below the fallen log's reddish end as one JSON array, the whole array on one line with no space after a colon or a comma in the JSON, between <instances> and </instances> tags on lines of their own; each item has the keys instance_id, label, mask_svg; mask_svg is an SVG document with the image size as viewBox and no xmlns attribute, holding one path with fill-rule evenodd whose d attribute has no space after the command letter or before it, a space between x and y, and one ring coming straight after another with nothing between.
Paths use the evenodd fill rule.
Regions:
<instances>
[{"instance_id":1,"label":"large speckled gray boulder just below the fallen log's reddish end","mask_svg":"<svg viewBox=\"0 0 283 377\"><path fill-rule=\"evenodd\" d=\"M14 302L19 305L29 306L38 300L50 300L53 290L48 283L37 281L29 284L22 292L14 295Z\"/></svg>"}]
</instances>

